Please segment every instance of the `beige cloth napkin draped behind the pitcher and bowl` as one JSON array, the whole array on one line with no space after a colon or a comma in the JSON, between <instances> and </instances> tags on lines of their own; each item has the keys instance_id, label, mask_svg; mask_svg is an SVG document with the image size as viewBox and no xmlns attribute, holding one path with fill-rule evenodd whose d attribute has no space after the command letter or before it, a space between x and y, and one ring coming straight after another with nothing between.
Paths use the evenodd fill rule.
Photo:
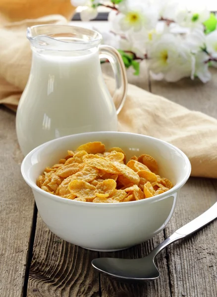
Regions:
<instances>
[{"instance_id":1,"label":"beige cloth napkin draped behind the pitcher and bowl","mask_svg":"<svg viewBox=\"0 0 217 297\"><path fill-rule=\"evenodd\" d=\"M0 103L16 110L31 65L26 28L41 23L66 23L58 15L25 20L0 28ZM105 78L113 93L114 82ZM128 85L126 102L118 115L119 131L160 138L183 150L192 176L217 178L217 120L201 112Z\"/></svg>"}]
</instances>

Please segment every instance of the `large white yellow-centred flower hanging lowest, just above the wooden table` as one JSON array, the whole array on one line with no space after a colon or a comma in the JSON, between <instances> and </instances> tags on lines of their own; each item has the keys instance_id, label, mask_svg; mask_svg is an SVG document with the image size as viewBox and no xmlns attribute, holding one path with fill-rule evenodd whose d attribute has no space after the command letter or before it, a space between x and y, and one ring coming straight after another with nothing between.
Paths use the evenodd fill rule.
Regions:
<instances>
[{"instance_id":1,"label":"large white yellow-centred flower hanging lowest, just above the wooden table","mask_svg":"<svg viewBox=\"0 0 217 297\"><path fill-rule=\"evenodd\" d=\"M195 59L182 40L172 34L163 34L148 48L149 68L155 79L175 82L194 72ZM157 76L156 76L157 75Z\"/></svg>"}]
</instances>

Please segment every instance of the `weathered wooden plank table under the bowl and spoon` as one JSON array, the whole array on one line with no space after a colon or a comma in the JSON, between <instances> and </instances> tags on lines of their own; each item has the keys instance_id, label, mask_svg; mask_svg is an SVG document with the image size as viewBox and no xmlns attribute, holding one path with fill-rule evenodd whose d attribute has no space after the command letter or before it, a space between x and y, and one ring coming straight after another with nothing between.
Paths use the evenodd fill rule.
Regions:
<instances>
[{"instance_id":1,"label":"weathered wooden plank table under the bowl and spoon","mask_svg":"<svg viewBox=\"0 0 217 297\"><path fill-rule=\"evenodd\" d=\"M108 73L108 65L103 65ZM152 81L128 72L130 83L190 109L217 117L217 71L206 85L198 80ZM214 135L217 137L217 135ZM157 257L161 278L144 284L120 284L91 266L99 256L138 258L173 231L217 201L217 181L190 178L175 213L152 240L127 250L103 254L62 241L49 231L20 173L22 154L15 133L15 114L0 107L0 297L216 297L217 220Z\"/></svg>"}]
</instances>

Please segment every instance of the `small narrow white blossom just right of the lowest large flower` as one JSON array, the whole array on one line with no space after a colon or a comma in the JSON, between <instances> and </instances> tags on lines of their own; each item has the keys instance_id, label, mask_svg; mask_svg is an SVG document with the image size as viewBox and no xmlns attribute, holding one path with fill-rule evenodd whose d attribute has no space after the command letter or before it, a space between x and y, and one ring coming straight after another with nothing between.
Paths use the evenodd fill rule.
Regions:
<instances>
[{"instance_id":1,"label":"small narrow white blossom just right of the lowest large flower","mask_svg":"<svg viewBox=\"0 0 217 297\"><path fill-rule=\"evenodd\" d=\"M211 79L209 65L207 63L209 56L204 51L200 51L195 55L195 75L203 82L207 83Z\"/></svg>"}]
</instances>

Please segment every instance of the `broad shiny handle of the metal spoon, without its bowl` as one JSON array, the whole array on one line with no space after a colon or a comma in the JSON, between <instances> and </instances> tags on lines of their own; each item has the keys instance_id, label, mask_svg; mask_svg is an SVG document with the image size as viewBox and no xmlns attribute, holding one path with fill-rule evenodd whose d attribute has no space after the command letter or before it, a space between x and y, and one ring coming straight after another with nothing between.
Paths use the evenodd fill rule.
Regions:
<instances>
[{"instance_id":1,"label":"broad shiny handle of the metal spoon, without its bowl","mask_svg":"<svg viewBox=\"0 0 217 297\"><path fill-rule=\"evenodd\" d=\"M217 218L217 202L211 206L207 211L199 215L196 219L190 221L186 225L176 230L170 237L163 241L159 246L155 247L151 254L155 257L163 248L167 247L171 243L184 238L202 227L206 226Z\"/></svg>"}]
</instances>

